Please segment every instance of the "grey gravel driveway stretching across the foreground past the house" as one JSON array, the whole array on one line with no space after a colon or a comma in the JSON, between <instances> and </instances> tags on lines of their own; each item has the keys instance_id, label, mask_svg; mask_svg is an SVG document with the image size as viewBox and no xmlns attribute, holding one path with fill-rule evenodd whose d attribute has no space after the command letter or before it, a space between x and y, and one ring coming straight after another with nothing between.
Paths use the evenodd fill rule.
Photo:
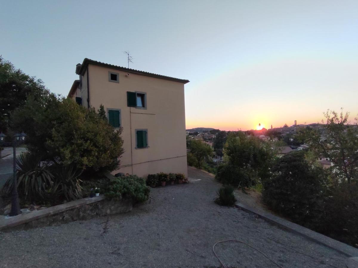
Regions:
<instances>
[{"instance_id":1,"label":"grey gravel driveway stretching across the foreground past the house","mask_svg":"<svg viewBox=\"0 0 358 268\"><path fill-rule=\"evenodd\" d=\"M131 213L0 233L0 267L219 267L212 252L239 239L282 267L345 267L346 257L236 208L214 203L219 184L189 168L192 182L151 190ZM198 180L199 179L199 180ZM228 267L276 267L256 250L215 247Z\"/></svg>"}]
</instances>

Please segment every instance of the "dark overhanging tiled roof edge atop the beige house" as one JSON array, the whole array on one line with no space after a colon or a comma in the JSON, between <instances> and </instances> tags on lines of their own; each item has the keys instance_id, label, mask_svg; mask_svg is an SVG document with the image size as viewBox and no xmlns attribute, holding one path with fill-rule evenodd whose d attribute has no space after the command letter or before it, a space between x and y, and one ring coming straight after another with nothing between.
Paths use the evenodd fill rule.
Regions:
<instances>
[{"instance_id":1,"label":"dark overhanging tiled roof edge atop the beige house","mask_svg":"<svg viewBox=\"0 0 358 268\"><path fill-rule=\"evenodd\" d=\"M117 65L112 65L112 64L108 64L108 63L102 63L101 61L91 60L91 59L88 59L88 58L84 58L82 64L77 64L76 74L83 75L84 72L87 69L88 64L94 64L94 65L110 67L112 69L126 71L128 73L141 74L141 75L151 76L151 77L155 77L155 78L161 78L161 79L176 81L176 82L180 82L180 83L184 83L184 84L189 82L189 80L187 80L187 79L179 79L179 78L174 78L174 77L160 75L160 74L148 73L146 71L140 71L140 70L130 69L130 68L121 67L121 66L117 66Z\"/></svg>"}]
</instances>

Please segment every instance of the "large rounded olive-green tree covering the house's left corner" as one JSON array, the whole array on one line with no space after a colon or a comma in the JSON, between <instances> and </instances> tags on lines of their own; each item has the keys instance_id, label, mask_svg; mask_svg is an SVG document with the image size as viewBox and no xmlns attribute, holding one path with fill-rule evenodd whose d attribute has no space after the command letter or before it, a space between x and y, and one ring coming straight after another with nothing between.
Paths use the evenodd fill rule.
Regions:
<instances>
[{"instance_id":1,"label":"large rounded olive-green tree covering the house's left corner","mask_svg":"<svg viewBox=\"0 0 358 268\"><path fill-rule=\"evenodd\" d=\"M27 134L28 150L41 159L83 169L107 172L118 167L122 155L121 130L114 130L94 108L52 93L29 96L14 112L13 125Z\"/></svg>"}]
</instances>

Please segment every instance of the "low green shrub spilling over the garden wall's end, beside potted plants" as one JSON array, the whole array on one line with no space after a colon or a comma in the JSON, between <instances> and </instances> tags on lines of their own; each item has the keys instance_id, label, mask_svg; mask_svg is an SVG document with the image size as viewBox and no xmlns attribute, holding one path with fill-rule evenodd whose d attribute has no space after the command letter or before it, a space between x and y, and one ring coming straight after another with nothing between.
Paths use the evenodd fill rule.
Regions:
<instances>
[{"instance_id":1,"label":"low green shrub spilling over the garden wall's end, beside potted plants","mask_svg":"<svg viewBox=\"0 0 358 268\"><path fill-rule=\"evenodd\" d=\"M145 185L145 179L136 175L123 176L110 181L106 197L120 200L132 198L134 203L141 203L149 198L150 189Z\"/></svg>"}]
</instances>

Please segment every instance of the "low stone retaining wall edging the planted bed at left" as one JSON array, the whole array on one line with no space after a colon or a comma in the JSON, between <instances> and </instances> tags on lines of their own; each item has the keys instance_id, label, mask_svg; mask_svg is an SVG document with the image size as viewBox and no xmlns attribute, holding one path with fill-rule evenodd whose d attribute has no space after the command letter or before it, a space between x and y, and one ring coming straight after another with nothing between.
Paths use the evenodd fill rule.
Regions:
<instances>
[{"instance_id":1,"label":"low stone retaining wall edging the planted bed at left","mask_svg":"<svg viewBox=\"0 0 358 268\"><path fill-rule=\"evenodd\" d=\"M131 199L108 200L104 196L83 198L30 213L0 219L0 231L59 225L76 220L126 213L132 210Z\"/></svg>"}]
</instances>

